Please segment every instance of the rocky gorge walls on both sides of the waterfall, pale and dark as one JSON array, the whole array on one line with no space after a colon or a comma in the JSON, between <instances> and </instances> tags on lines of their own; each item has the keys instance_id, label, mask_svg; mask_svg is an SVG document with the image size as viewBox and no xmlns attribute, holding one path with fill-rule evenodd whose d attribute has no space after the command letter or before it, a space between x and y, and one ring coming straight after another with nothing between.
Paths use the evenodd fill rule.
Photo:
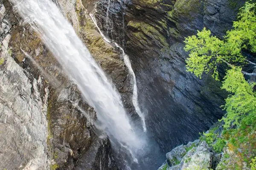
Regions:
<instances>
[{"instance_id":1,"label":"rocky gorge walls on both sides of the waterfall, pale and dark","mask_svg":"<svg viewBox=\"0 0 256 170\"><path fill-rule=\"evenodd\" d=\"M96 7L101 30L130 56L148 133L163 151L193 141L224 114L219 108L226 96L221 84L186 72L183 40L204 27L223 36L244 0L52 1L116 86L136 122L131 75L121 51L102 39L90 19ZM93 125L94 109L9 0L0 4L0 167L120 169L110 140Z\"/></svg>"}]
</instances>

